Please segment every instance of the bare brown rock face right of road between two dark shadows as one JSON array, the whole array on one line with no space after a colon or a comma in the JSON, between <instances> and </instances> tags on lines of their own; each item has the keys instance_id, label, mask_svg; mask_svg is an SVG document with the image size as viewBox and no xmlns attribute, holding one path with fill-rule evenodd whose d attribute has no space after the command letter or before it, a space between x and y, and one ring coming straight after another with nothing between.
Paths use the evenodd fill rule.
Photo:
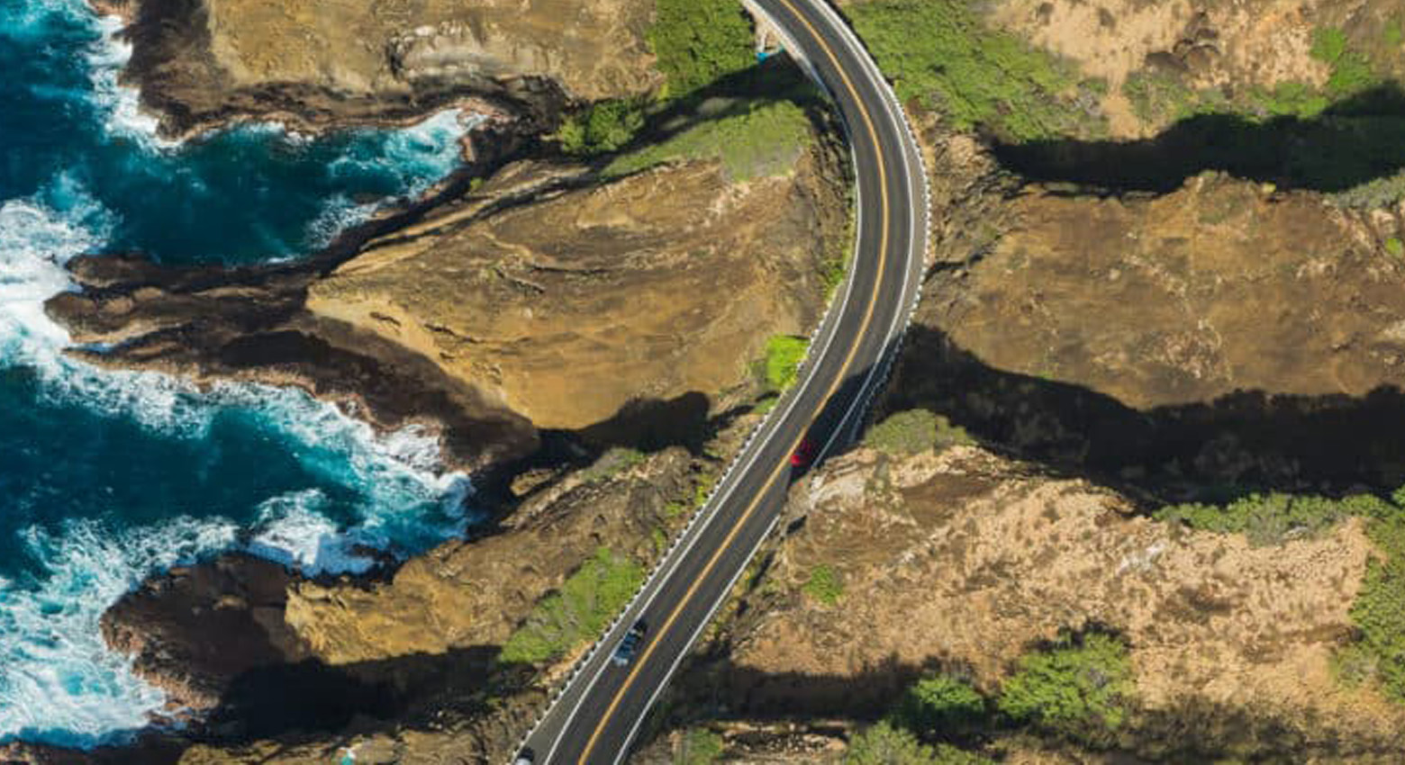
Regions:
<instances>
[{"instance_id":1,"label":"bare brown rock face right of road between two dark shadows","mask_svg":"<svg viewBox=\"0 0 1405 765\"><path fill-rule=\"evenodd\" d=\"M924 323L982 362L1135 407L1405 383L1405 264L1314 194L1205 174L1156 198L1013 201ZM940 307L939 307L940 306Z\"/></svg>"}]
</instances>

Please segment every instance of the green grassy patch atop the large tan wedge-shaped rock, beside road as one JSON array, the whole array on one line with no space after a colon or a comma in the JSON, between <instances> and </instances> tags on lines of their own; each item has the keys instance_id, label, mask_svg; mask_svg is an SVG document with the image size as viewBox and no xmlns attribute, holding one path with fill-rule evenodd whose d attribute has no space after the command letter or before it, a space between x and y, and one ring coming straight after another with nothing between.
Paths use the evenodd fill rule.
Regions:
<instances>
[{"instance_id":1,"label":"green grassy patch atop the large tan wedge-shaped rock, beside road","mask_svg":"<svg viewBox=\"0 0 1405 765\"><path fill-rule=\"evenodd\" d=\"M705 119L667 139L611 161L607 177L628 175L659 164L721 160L733 181L788 171L809 146L805 111L788 101L740 101L738 114Z\"/></svg>"}]
</instances>

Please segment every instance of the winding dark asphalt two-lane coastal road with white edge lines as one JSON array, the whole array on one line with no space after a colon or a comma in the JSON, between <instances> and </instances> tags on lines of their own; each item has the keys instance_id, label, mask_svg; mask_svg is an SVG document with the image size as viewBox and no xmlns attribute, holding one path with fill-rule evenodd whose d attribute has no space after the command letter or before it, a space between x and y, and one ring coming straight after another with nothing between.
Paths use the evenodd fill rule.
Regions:
<instances>
[{"instance_id":1,"label":"winding dark asphalt two-lane coastal road with white edge lines","mask_svg":"<svg viewBox=\"0 0 1405 765\"><path fill-rule=\"evenodd\" d=\"M746 0L832 95L850 140L857 236L849 277L781 397L690 522L527 737L538 764L621 762L645 713L725 601L780 517L804 467L851 439L906 330L924 270L927 197L922 157L898 100L858 38L825 0ZM643 619L634 661L610 661Z\"/></svg>"}]
</instances>

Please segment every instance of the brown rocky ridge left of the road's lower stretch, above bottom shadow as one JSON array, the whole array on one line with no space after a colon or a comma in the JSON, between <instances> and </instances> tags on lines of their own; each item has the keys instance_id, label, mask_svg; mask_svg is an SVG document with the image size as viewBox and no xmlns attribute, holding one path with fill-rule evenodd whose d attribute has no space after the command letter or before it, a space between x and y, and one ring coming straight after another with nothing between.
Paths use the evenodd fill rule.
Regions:
<instances>
[{"instance_id":1,"label":"brown rocky ridge left of the road's lower stretch, above bottom shadow","mask_svg":"<svg viewBox=\"0 0 1405 765\"><path fill-rule=\"evenodd\" d=\"M299 584L287 623L329 664L500 646L597 547L652 557L652 531L681 522L663 508L686 493L688 470L687 453L674 449L613 480L568 479L530 500L503 533L447 542L386 584Z\"/></svg>"}]
</instances>

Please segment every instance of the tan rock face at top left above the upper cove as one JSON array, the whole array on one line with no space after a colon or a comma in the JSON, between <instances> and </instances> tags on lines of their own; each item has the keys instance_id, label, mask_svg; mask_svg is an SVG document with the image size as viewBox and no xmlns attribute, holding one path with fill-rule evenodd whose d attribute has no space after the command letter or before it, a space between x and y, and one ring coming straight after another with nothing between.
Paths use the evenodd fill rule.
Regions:
<instances>
[{"instance_id":1,"label":"tan rock face at top left above the upper cove","mask_svg":"<svg viewBox=\"0 0 1405 765\"><path fill-rule=\"evenodd\" d=\"M105 0L128 77L171 133L256 118L319 129L448 102L549 122L563 98L651 88L646 0ZM486 101L473 102L472 98Z\"/></svg>"}]
</instances>

